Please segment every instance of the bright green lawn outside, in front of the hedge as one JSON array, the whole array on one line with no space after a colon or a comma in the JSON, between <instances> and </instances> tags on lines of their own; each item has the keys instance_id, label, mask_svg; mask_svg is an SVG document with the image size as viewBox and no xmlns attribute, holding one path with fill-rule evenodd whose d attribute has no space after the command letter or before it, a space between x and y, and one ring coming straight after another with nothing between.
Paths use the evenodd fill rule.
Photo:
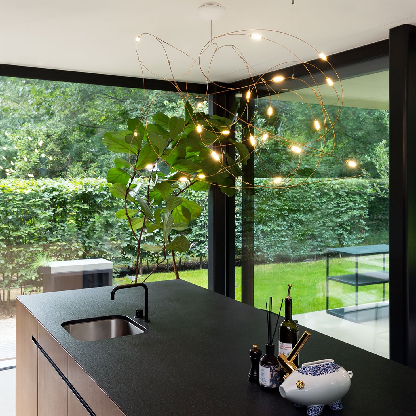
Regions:
<instances>
[{"instance_id":1,"label":"bright green lawn outside, in front of the hedge","mask_svg":"<svg viewBox=\"0 0 416 416\"><path fill-rule=\"evenodd\" d=\"M381 256L359 258L359 271L381 270ZM388 265L388 256L386 256ZM287 294L287 285L292 285L293 313L314 312L326 309L326 260L255 265L254 306L265 309L267 297L273 297L273 311L279 312L280 301ZM388 268L386 268L388 270ZM354 258L333 258L329 262L330 275L355 272ZM181 279L208 288L208 270L186 270L180 272ZM171 273L154 273L148 282L174 279ZM117 279L118 280L118 279ZM123 282L126 283L126 282ZM342 283L329 282L329 307L354 305L355 289ZM389 285L386 284L386 300L389 299ZM235 268L235 299L241 301L241 267ZM359 303L382 300L382 285L359 288Z\"/></svg>"}]
</instances>

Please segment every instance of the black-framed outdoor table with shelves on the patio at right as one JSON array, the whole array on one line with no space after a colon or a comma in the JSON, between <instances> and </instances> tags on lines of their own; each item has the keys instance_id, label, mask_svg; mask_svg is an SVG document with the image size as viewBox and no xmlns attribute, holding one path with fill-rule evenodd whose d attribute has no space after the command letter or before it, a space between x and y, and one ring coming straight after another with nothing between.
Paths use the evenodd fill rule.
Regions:
<instances>
[{"instance_id":1,"label":"black-framed outdoor table with shelves on the patio at right","mask_svg":"<svg viewBox=\"0 0 416 416\"><path fill-rule=\"evenodd\" d=\"M329 275L329 254L341 254L355 257L355 273L347 275ZM389 302L385 301L385 284L389 282L389 272L386 268L386 254L389 253L389 245L362 245L357 247L342 247L327 249L327 313L348 319L353 322L363 322L372 319L381 319L389 317ZM358 258L364 255L383 255L383 267L379 271L358 272ZM355 306L347 306L336 309L329 309L329 281L343 283L355 287ZM359 305L358 288L368 285L383 285L383 301Z\"/></svg>"}]
</instances>

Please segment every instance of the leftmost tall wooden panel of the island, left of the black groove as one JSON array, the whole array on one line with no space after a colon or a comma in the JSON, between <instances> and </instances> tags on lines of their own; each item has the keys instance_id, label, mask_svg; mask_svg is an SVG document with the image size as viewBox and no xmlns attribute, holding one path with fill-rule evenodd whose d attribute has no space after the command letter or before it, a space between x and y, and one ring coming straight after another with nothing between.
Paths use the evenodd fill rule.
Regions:
<instances>
[{"instance_id":1,"label":"leftmost tall wooden panel of the island, left of the black groove","mask_svg":"<svg viewBox=\"0 0 416 416\"><path fill-rule=\"evenodd\" d=\"M16 299L16 416L37 415L37 319ZM22 397L23 396L23 397Z\"/></svg>"}]
</instances>

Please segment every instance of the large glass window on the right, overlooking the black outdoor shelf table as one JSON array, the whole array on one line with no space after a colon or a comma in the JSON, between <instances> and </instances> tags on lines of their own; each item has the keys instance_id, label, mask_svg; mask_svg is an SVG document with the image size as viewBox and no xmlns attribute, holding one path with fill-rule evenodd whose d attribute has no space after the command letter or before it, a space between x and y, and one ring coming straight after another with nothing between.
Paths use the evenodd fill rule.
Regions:
<instances>
[{"instance_id":1,"label":"large glass window on the right, overlooking the black outdoor shelf table","mask_svg":"<svg viewBox=\"0 0 416 416\"><path fill-rule=\"evenodd\" d=\"M317 157L306 152L299 158L275 141L256 143L254 306L264 309L270 295L282 299L292 284L293 313L300 324L389 357L388 71L349 77L342 87L335 139L324 147L326 152L334 148L339 158L322 157L317 167ZM313 146L314 114L322 110L309 91L258 99L253 124ZM326 99L334 120L338 107ZM266 116L270 106L271 120ZM361 171L344 159L355 161L364 175L354 177ZM293 171L286 187L261 187ZM293 186L310 174L308 183ZM237 219L249 215L238 201L240 192ZM250 243L247 236L242 243L240 238L237 234L238 248ZM237 287L240 298L238 279Z\"/></svg>"}]
</instances>

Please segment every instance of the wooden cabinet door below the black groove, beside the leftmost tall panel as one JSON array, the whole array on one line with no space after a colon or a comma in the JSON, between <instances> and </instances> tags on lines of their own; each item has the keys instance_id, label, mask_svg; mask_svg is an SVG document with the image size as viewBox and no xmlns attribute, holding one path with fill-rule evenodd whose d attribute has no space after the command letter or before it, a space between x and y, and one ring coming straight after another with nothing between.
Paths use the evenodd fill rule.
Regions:
<instances>
[{"instance_id":1,"label":"wooden cabinet door below the black groove, beside the leftmost tall panel","mask_svg":"<svg viewBox=\"0 0 416 416\"><path fill-rule=\"evenodd\" d=\"M68 386L40 350L37 371L38 416L67 416Z\"/></svg>"}]
</instances>

